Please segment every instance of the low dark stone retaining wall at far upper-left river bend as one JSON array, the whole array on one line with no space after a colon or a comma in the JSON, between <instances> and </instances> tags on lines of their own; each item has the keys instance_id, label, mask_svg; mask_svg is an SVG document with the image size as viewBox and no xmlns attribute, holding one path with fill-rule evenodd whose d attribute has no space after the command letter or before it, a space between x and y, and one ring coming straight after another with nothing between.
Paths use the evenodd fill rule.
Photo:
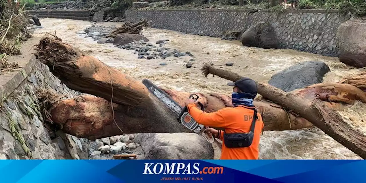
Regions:
<instances>
[{"instance_id":1,"label":"low dark stone retaining wall at far upper-left river bend","mask_svg":"<svg viewBox=\"0 0 366 183\"><path fill-rule=\"evenodd\" d=\"M93 17L89 11L66 11L66 10L30 10L31 15L37 15L38 18L63 18L75 20L91 20Z\"/></svg>"}]
</instances>

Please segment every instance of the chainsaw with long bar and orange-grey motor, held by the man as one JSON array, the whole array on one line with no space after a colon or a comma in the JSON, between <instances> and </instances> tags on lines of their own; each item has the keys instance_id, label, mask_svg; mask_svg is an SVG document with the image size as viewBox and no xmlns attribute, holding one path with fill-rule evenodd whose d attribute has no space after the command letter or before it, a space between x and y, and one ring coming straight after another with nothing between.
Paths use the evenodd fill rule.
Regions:
<instances>
[{"instance_id":1,"label":"chainsaw with long bar and orange-grey motor, held by the man","mask_svg":"<svg viewBox=\"0 0 366 183\"><path fill-rule=\"evenodd\" d=\"M182 108L176 101L174 101L167 93L165 93L163 90L159 89L154 83L149 81L148 79L143 79L142 83L147 87L147 89L152 93L154 96L156 96L160 101L162 101L165 105L168 106L169 109L174 111L176 113L177 121L182 124L184 127L188 128L189 130L192 130L193 132L197 133L198 135L201 135L203 139L206 141L213 143L215 142L214 137L211 138L208 137L206 132L206 127L202 124L198 124L193 117L188 113L187 106ZM188 98L192 98L194 101L198 100L198 96L196 94L191 94ZM197 102L201 110L203 110L203 105L201 102Z\"/></svg>"}]
</instances>

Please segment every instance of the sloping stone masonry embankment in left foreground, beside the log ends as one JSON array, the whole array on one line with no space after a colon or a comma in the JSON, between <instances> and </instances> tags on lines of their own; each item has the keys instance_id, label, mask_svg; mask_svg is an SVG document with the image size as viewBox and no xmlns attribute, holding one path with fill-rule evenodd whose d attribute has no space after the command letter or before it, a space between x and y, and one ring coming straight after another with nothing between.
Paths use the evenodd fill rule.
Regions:
<instances>
[{"instance_id":1,"label":"sloping stone masonry embankment in left foreground, beside the log ends","mask_svg":"<svg viewBox=\"0 0 366 183\"><path fill-rule=\"evenodd\" d=\"M29 73L23 70L23 74L14 77L19 86L0 101L0 159L88 159L87 139L48 132L36 95L37 89L45 86L67 97L78 93L68 89L35 59L25 70ZM9 93L7 88L2 93ZM27 149L31 154L26 153Z\"/></svg>"}]
</instances>

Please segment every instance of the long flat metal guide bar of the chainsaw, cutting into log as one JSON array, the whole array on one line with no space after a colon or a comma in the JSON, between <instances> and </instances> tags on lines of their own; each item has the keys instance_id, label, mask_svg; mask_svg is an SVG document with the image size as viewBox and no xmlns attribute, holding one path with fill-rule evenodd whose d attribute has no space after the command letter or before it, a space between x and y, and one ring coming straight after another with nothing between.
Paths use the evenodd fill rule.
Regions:
<instances>
[{"instance_id":1,"label":"long flat metal guide bar of the chainsaw, cutting into log","mask_svg":"<svg viewBox=\"0 0 366 183\"><path fill-rule=\"evenodd\" d=\"M179 113L183 110L183 108L174 101L165 91L158 88L154 83L149 81L148 79L143 79L142 83L147 87L150 93L154 94L160 101L162 101L165 105L167 105L172 111L174 111L179 116Z\"/></svg>"}]
</instances>

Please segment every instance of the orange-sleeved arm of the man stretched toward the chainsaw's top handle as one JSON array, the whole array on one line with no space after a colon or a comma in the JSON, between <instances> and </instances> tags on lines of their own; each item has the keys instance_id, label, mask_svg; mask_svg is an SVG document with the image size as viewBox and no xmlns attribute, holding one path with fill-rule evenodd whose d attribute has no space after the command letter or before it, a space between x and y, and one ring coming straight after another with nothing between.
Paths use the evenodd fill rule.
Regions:
<instances>
[{"instance_id":1,"label":"orange-sleeved arm of the man stretched toward the chainsaw's top handle","mask_svg":"<svg viewBox=\"0 0 366 183\"><path fill-rule=\"evenodd\" d=\"M187 105L188 113L196 120L197 123L212 127L226 127L224 115L221 110L217 112L206 113L199 110L194 103Z\"/></svg>"}]
</instances>

